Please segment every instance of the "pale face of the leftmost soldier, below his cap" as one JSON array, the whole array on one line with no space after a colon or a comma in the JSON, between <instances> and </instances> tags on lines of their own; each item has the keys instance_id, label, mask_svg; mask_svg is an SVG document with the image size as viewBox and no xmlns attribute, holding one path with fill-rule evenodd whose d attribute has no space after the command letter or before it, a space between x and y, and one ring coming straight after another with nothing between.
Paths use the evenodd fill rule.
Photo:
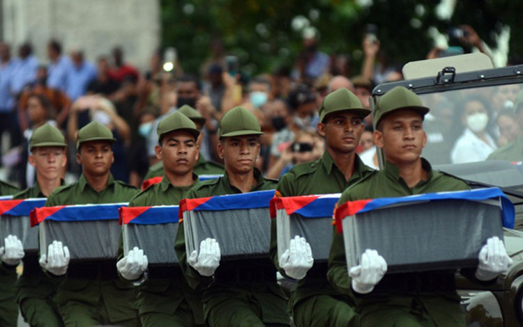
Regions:
<instances>
[{"instance_id":1,"label":"pale face of the leftmost soldier, below his cap","mask_svg":"<svg viewBox=\"0 0 523 327\"><path fill-rule=\"evenodd\" d=\"M36 168L38 176L46 180L62 177L66 163L66 150L63 147L35 147L29 155L29 164Z\"/></svg>"}]
</instances>

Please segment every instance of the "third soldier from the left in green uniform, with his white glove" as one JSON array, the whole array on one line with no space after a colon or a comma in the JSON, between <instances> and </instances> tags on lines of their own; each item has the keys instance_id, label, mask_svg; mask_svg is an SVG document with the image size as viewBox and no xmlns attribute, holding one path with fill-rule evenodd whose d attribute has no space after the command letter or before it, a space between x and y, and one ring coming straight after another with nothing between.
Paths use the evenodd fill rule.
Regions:
<instances>
[{"instance_id":1,"label":"third soldier from the left in green uniform, with his white glove","mask_svg":"<svg viewBox=\"0 0 523 327\"><path fill-rule=\"evenodd\" d=\"M129 207L178 205L189 189L199 182L192 168L198 160L199 131L179 111L167 115L158 125L156 156L162 160L165 173L162 182L149 186L132 198ZM139 266L138 248L130 250L117 266L123 278L136 280L146 266ZM146 255L139 252L140 257ZM130 259L130 260L129 260ZM139 287L138 310L142 325L195 326L204 324L201 293L190 288L179 266L149 267L147 279Z\"/></svg>"}]
</instances>

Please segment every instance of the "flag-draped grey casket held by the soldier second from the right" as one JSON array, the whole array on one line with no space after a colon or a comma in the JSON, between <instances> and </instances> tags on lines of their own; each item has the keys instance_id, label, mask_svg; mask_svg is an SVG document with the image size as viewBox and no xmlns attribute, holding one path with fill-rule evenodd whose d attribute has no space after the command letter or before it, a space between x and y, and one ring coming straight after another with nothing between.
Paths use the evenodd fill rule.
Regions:
<instances>
[{"instance_id":1,"label":"flag-draped grey casket held by the soldier second from the right","mask_svg":"<svg viewBox=\"0 0 523 327\"><path fill-rule=\"evenodd\" d=\"M305 237L315 262L328 260L333 239L332 217L340 193L321 196L289 196L271 200L271 218L276 218L278 257L296 235Z\"/></svg>"}]
</instances>

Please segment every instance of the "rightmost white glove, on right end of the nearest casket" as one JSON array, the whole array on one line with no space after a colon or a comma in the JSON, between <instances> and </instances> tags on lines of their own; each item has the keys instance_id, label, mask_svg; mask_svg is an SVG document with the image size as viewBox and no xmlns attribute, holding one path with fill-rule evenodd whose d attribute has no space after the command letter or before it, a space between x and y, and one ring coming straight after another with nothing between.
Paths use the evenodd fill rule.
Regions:
<instances>
[{"instance_id":1,"label":"rightmost white glove, on right end of the nearest casket","mask_svg":"<svg viewBox=\"0 0 523 327\"><path fill-rule=\"evenodd\" d=\"M499 273L506 271L511 264L513 261L507 255L503 241L497 236L491 237L480 250L476 278L484 281L492 280Z\"/></svg>"}]
</instances>

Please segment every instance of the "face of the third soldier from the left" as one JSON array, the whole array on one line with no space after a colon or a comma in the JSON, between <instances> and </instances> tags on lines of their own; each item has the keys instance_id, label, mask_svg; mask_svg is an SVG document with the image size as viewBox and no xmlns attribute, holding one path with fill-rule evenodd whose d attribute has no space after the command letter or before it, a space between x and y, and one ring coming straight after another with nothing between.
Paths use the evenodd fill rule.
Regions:
<instances>
[{"instance_id":1,"label":"face of the third soldier from the left","mask_svg":"<svg viewBox=\"0 0 523 327\"><path fill-rule=\"evenodd\" d=\"M199 146L195 137L187 131L172 131L163 136L162 145L157 145L155 151L166 172L183 176L192 173L198 160Z\"/></svg>"}]
</instances>

